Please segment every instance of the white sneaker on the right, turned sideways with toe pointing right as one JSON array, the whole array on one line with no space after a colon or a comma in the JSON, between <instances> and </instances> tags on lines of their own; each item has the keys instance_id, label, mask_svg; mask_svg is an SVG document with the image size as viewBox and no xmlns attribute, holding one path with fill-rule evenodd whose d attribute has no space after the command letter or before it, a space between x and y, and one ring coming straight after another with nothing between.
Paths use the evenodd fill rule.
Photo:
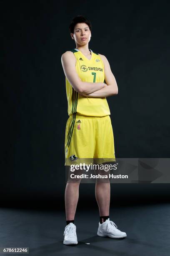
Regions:
<instances>
[{"instance_id":1,"label":"white sneaker on the right, turned sideways with toe pointing right","mask_svg":"<svg viewBox=\"0 0 170 256\"><path fill-rule=\"evenodd\" d=\"M126 233L117 229L117 226L109 218L100 224L97 231L97 236L109 236L111 238L122 238L126 237Z\"/></svg>"}]
</instances>

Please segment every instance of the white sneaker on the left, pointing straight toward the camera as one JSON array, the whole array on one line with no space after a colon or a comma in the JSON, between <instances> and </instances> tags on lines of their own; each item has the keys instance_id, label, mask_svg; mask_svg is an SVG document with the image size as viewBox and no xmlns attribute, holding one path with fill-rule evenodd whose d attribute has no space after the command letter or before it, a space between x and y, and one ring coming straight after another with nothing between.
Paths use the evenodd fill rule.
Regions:
<instances>
[{"instance_id":1,"label":"white sneaker on the left, pointing straight toward the camera","mask_svg":"<svg viewBox=\"0 0 170 256\"><path fill-rule=\"evenodd\" d=\"M73 223L69 223L65 226L64 230L64 244L77 244L76 226Z\"/></svg>"}]
</instances>

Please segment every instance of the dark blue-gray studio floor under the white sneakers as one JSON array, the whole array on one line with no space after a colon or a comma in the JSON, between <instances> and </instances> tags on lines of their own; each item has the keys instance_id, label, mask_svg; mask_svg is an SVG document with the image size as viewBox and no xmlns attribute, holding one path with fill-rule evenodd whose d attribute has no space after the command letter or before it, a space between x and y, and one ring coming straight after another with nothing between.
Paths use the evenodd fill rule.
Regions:
<instances>
[{"instance_id":1,"label":"dark blue-gray studio floor under the white sneakers","mask_svg":"<svg viewBox=\"0 0 170 256\"><path fill-rule=\"evenodd\" d=\"M0 247L29 247L31 256L170 255L170 204L112 205L110 220L126 238L97 236L98 209L77 210L78 244L66 246L64 211L0 208Z\"/></svg>"}]
</instances>

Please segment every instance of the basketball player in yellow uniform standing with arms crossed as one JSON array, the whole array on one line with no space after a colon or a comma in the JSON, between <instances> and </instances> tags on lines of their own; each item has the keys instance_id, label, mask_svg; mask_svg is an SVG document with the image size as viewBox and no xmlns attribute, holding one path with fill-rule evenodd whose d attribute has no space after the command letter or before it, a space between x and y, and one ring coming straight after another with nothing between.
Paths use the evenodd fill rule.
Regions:
<instances>
[{"instance_id":1,"label":"basketball player in yellow uniform standing with arms crossed","mask_svg":"<svg viewBox=\"0 0 170 256\"><path fill-rule=\"evenodd\" d=\"M106 97L117 95L117 83L107 58L89 49L90 20L78 15L70 24L70 35L76 48L62 54L66 77L68 115L65 131L65 165L78 159L110 159L115 161L110 109ZM75 211L79 196L78 182L66 184L66 245L77 244ZM126 237L109 218L110 182L95 184L99 207L98 236Z\"/></svg>"}]
</instances>

